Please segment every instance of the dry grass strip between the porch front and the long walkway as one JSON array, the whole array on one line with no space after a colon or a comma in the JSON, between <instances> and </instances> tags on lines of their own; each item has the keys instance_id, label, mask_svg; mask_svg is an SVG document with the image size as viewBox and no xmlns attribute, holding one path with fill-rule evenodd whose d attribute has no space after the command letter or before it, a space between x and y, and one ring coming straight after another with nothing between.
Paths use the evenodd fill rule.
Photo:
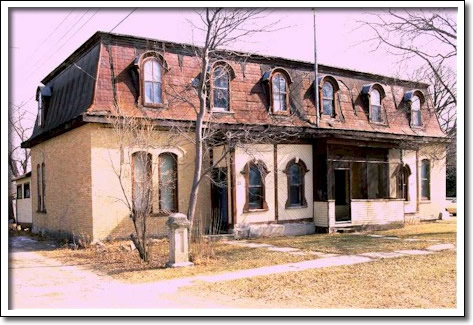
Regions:
<instances>
[{"instance_id":1,"label":"dry grass strip between the porch front and the long walkway","mask_svg":"<svg viewBox=\"0 0 473 325\"><path fill-rule=\"evenodd\" d=\"M364 236L365 234L315 234L306 236L259 238L252 242L281 247L295 247L334 254L360 254L367 252L390 252L405 249L424 249L439 240L442 243L456 243L456 222L435 222L407 225L403 228L371 232L401 239L417 238L420 241L403 241Z\"/></svg>"}]
</instances>

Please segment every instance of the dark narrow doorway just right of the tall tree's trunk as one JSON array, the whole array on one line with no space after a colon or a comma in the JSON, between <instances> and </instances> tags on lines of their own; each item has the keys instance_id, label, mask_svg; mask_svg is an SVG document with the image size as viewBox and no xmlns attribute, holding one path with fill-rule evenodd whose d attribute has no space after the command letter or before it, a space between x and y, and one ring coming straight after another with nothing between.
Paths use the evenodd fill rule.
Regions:
<instances>
[{"instance_id":1,"label":"dark narrow doorway just right of the tall tree's trunk","mask_svg":"<svg viewBox=\"0 0 473 325\"><path fill-rule=\"evenodd\" d=\"M228 232L228 182L227 168L216 168L212 182L212 218L210 234Z\"/></svg>"}]
</instances>

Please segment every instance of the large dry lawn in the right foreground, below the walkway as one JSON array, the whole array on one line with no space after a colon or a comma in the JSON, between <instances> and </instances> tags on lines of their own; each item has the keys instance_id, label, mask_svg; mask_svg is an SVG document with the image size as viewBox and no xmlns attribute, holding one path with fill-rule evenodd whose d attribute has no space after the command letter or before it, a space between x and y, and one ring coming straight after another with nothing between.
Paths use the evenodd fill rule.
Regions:
<instances>
[{"instance_id":1,"label":"large dry lawn in the right foreground, below the walkway","mask_svg":"<svg viewBox=\"0 0 473 325\"><path fill-rule=\"evenodd\" d=\"M456 253L240 279L181 289L271 308L455 308Z\"/></svg>"}]
</instances>

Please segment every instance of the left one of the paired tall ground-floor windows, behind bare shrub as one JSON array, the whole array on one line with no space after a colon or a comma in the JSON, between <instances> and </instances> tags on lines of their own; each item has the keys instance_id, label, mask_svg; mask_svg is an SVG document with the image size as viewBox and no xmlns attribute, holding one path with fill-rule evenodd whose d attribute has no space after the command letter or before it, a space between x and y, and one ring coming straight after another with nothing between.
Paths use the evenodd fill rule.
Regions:
<instances>
[{"instance_id":1,"label":"left one of the paired tall ground-floor windows, behind bare shrub","mask_svg":"<svg viewBox=\"0 0 473 325\"><path fill-rule=\"evenodd\" d=\"M132 155L133 163L133 211L137 217L151 213L152 156L145 151Z\"/></svg>"}]
</instances>

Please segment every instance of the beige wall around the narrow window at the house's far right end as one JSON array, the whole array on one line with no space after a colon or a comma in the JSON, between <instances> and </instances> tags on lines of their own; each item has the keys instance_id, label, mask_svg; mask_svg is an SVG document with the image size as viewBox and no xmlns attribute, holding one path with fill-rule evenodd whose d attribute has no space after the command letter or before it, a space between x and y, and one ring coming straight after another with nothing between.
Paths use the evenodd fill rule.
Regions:
<instances>
[{"instance_id":1,"label":"beige wall around the narrow window at the house's far right end","mask_svg":"<svg viewBox=\"0 0 473 325\"><path fill-rule=\"evenodd\" d=\"M422 218L438 218L446 207L446 150L444 145L431 145L421 148L418 152L417 181L420 192L420 166L423 159L430 160L430 200L420 199L419 216Z\"/></svg>"}]
</instances>

